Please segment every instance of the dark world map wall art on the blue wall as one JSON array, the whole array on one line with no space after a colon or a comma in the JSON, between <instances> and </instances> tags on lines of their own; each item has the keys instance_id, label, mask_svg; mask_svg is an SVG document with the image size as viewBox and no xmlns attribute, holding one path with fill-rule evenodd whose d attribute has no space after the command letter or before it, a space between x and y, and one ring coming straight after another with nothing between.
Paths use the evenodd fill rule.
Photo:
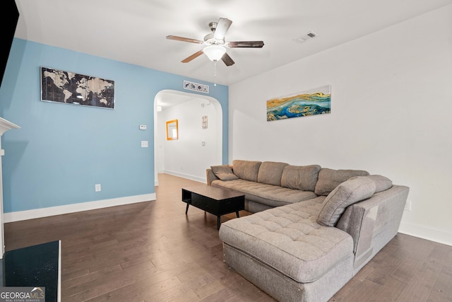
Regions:
<instances>
[{"instance_id":1,"label":"dark world map wall art on the blue wall","mask_svg":"<svg viewBox=\"0 0 452 302\"><path fill-rule=\"evenodd\" d=\"M42 101L114 109L114 81L41 67Z\"/></svg>"}]
</instances>

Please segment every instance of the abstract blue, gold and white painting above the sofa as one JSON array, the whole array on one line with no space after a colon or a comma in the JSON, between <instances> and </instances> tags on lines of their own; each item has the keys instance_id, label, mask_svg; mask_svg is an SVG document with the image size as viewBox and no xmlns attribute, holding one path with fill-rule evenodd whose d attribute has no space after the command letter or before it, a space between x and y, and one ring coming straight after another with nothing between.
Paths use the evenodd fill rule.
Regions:
<instances>
[{"instance_id":1,"label":"abstract blue, gold and white painting above the sofa","mask_svg":"<svg viewBox=\"0 0 452 302\"><path fill-rule=\"evenodd\" d=\"M331 85L267 101L267 121L331 112Z\"/></svg>"}]
</instances>

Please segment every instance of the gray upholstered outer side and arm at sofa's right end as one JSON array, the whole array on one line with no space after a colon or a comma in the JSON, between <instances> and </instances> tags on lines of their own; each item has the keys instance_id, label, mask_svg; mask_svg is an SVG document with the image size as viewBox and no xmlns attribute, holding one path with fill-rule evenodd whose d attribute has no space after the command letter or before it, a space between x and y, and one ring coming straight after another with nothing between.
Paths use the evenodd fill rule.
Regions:
<instances>
[{"instance_id":1,"label":"gray upholstered outer side and arm at sofa's right end","mask_svg":"<svg viewBox=\"0 0 452 302\"><path fill-rule=\"evenodd\" d=\"M393 185L371 198L347 207L337 228L349 233L354 242L357 272L398 232L409 188Z\"/></svg>"}]
</instances>

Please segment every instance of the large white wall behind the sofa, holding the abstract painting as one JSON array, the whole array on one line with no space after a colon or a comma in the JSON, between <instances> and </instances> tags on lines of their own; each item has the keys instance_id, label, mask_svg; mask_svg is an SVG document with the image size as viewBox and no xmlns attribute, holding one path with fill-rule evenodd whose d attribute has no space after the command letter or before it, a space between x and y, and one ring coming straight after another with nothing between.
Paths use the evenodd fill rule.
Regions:
<instances>
[{"instance_id":1,"label":"large white wall behind the sofa, holding the abstract painting","mask_svg":"<svg viewBox=\"0 0 452 302\"><path fill-rule=\"evenodd\" d=\"M266 121L266 100L324 85L331 114ZM386 175L410 187L400 232L452 245L451 87L446 6L230 86L230 162Z\"/></svg>"}]
</instances>

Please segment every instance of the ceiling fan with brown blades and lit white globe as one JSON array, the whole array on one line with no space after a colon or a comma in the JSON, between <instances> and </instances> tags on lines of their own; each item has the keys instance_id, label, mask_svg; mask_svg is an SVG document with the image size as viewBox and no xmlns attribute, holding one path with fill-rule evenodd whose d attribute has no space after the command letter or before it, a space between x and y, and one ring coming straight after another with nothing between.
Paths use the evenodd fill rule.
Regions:
<instances>
[{"instance_id":1,"label":"ceiling fan with brown blades and lit white globe","mask_svg":"<svg viewBox=\"0 0 452 302\"><path fill-rule=\"evenodd\" d=\"M229 54L227 54L227 47L263 47L263 41L225 42L225 34L231 24L232 21L227 18L220 18L218 22L210 22L209 28L212 30L212 33L206 35L203 41L191 39L189 37L178 37L176 35L167 35L167 39L206 45L203 50L195 52L194 54L191 54L191 56L186 57L186 59L183 59L182 63L191 62L191 60L199 57L201 54L206 54L210 61L217 62L221 59L222 62L225 62L226 66L231 66L235 62Z\"/></svg>"}]
</instances>

